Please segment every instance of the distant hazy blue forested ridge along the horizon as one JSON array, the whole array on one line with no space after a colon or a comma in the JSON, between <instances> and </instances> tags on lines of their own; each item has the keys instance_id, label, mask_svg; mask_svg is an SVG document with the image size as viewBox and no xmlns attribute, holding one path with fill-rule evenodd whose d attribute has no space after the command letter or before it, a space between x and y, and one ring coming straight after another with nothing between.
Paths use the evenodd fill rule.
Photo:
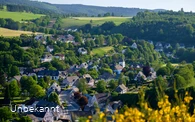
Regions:
<instances>
[{"instance_id":1,"label":"distant hazy blue forested ridge along the horizon","mask_svg":"<svg viewBox=\"0 0 195 122\"><path fill-rule=\"evenodd\" d=\"M97 16L98 14L103 15L106 13L114 13L115 16L135 16L138 12L145 11L146 9L139 8L122 8L122 7L99 7L99 6L88 6L78 4L50 4L45 2L30 1L30 0L0 0L0 4L11 4L11 5L24 5L44 10L53 11L55 13L64 14L85 14L88 16ZM162 9L149 10L149 11L164 11Z\"/></svg>"}]
</instances>

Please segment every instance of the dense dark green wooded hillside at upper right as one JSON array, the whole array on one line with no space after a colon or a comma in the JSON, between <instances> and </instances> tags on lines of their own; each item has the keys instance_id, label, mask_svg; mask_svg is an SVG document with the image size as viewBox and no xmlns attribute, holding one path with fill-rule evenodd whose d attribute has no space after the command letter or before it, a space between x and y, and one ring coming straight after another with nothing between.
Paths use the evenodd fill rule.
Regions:
<instances>
[{"instance_id":1,"label":"dense dark green wooded hillside at upper right","mask_svg":"<svg viewBox=\"0 0 195 122\"><path fill-rule=\"evenodd\" d=\"M192 12L166 11L152 13L139 12L131 21L116 26L107 22L99 27L90 29L91 33L113 34L121 33L134 39L145 39L169 42L195 44L195 14ZM85 26L86 27L86 26ZM85 32L89 29L82 28Z\"/></svg>"}]
</instances>

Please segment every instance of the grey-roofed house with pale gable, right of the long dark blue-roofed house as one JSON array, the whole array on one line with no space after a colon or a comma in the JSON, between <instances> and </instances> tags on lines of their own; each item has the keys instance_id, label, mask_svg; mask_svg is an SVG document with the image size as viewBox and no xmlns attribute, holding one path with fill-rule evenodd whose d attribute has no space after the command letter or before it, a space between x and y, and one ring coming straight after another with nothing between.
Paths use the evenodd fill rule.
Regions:
<instances>
[{"instance_id":1,"label":"grey-roofed house with pale gable, right of the long dark blue-roofed house","mask_svg":"<svg viewBox=\"0 0 195 122\"><path fill-rule=\"evenodd\" d=\"M62 83L61 83L61 86L62 87L66 87L66 86L73 86L77 81L79 80L79 77L78 76L69 76L69 77L66 77Z\"/></svg>"}]
</instances>

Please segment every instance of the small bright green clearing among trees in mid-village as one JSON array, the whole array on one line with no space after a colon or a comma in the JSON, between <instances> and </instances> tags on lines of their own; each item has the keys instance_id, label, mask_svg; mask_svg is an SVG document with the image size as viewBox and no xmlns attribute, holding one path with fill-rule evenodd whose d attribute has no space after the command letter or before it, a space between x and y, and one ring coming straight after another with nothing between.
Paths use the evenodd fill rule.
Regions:
<instances>
[{"instance_id":1,"label":"small bright green clearing among trees in mid-village","mask_svg":"<svg viewBox=\"0 0 195 122\"><path fill-rule=\"evenodd\" d=\"M104 54L106 54L108 51L110 51L112 49L113 49L113 47L111 47L111 46L95 48L91 51L91 55L104 56Z\"/></svg>"}]
</instances>

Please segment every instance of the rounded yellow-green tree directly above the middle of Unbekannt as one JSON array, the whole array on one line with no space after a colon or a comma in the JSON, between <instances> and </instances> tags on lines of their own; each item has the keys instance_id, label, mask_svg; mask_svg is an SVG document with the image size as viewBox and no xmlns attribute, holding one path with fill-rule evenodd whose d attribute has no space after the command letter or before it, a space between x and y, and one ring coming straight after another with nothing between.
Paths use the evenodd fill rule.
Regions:
<instances>
[{"instance_id":1,"label":"rounded yellow-green tree directly above the middle of Unbekannt","mask_svg":"<svg viewBox=\"0 0 195 122\"><path fill-rule=\"evenodd\" d=\"M30 88L30 95L32 97L41 98L45 96L45 90L41 86L35 84Z\"/></svg>"}]
</instances>

